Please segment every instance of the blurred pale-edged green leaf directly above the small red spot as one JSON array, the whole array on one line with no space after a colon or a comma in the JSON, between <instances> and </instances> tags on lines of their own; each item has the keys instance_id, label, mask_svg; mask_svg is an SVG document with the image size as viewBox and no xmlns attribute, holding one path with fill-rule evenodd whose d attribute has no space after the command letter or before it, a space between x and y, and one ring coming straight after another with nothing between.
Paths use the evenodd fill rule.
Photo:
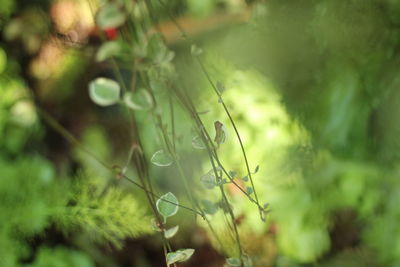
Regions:
<instances>
[{"instance_id":1,"label":"blurred pale-edged green leaf directly above the small red spot","mask_svg":"<svg viewBox=\"0 0 400 267\"><path fill-rule=\"evenodd\" d=\"M117 28L125 23L125 13L114 3L102 6L96 14L96 24L101 29Z\"/></svg>"}]
</instances>

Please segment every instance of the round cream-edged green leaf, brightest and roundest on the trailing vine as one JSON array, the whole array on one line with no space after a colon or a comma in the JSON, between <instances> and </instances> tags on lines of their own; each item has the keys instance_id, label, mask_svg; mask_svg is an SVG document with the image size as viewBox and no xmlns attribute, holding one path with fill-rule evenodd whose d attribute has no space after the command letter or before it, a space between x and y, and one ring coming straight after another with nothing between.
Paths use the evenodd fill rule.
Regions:
<instances>
[{"instance_id":1,"label":"round cream-edged green leaf, brightest and roundest on the trailing vine","mask_svg":"<svg viewBox=\"0 0 400 267\"><path fill-rule=\"evenodd\" d=\"M111 79L96 78L89 83L89 96L100 106L110 106L119 101L120 86Z\"/></svg>"}]
</instances>

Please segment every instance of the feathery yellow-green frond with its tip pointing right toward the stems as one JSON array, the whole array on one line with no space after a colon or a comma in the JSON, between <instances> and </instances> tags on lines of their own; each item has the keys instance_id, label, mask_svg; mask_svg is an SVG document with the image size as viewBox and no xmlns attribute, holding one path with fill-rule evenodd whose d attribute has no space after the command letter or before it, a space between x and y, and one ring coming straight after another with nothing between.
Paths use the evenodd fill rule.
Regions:
<instances>
[{"instance_id":1,"label":"feathery yellow-green frond with its tip pointing right toward the stems","mask_svg":"<svg viewBox=\"0 0 400 267\"><path fill-rule=\"evenodd\" d=\"M152 232L150 216L138 200L121 188L102 192L98 179L80 177L75 184L73 204L55 216L59 228L68 233L76 228L94 242L110 242L121 248L122 240Z\"/></svg>"}]
</instances>

